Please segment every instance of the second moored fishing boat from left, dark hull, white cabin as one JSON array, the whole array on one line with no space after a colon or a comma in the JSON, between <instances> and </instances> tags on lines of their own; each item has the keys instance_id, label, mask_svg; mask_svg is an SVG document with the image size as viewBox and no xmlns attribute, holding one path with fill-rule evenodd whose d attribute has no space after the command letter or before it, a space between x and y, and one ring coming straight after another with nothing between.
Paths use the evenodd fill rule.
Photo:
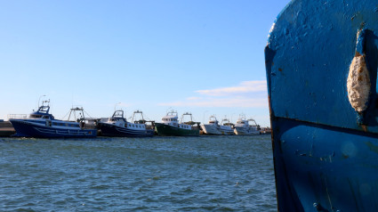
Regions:
<instances>
[{"instance_id":1,"label":"second moored fishing boat from left, dark hull, white cabin","mask_svg":"<svg viewBox=\"0 0 378 212\"><path fill-rule=\"evenodd\" d=\"M141 115L140 120L134 119L137 114ZM154 130L146 127L146 121L140 110L133 112L132 122L124 118L124 110L116 110L110 118L100 120L98 127L103 136L148 137L154 135Z\"/></svg>"}]
</instances>

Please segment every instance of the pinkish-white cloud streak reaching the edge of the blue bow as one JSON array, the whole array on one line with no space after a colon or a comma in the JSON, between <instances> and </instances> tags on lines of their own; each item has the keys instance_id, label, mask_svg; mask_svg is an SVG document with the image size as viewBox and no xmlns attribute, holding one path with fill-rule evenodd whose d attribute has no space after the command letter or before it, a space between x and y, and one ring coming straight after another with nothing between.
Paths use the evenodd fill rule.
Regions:
<instances>
[{"instance_id":1,"label":"pinkish-white cloud streak reaching the edge of the blue bow","mask_svg":"<svg viewBox=\"0 0 378 212\"><path fill-rule=\"evenodd\" d=\"M244 81L239 86L221 87L210 90L198 90L196 93L209 96L229 96L255 92L266 92L267 83L265 80Z\"/></svg>"}]
</instances>

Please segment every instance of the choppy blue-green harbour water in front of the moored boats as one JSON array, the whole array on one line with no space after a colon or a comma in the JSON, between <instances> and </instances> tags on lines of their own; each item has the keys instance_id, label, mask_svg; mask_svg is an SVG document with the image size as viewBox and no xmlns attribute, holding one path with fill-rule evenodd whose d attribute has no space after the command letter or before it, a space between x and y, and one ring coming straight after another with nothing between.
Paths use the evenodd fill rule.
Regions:
<instances>
[{"instance_id":1,"label":"choppy blue-green harbour water in front of the moored boats","mask_svg":"<svg viewBox=\"0 0 378 212\"><path fill-rule=\"evenodd\" d=\"M0 138L1 211L277 211L269 135Z\"/></svg>"}]
</instances>

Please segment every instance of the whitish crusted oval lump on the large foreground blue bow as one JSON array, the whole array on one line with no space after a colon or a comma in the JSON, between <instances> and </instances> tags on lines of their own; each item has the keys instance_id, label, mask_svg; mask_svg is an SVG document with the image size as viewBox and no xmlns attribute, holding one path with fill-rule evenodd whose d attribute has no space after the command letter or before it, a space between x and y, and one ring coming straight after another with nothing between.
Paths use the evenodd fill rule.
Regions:
<instances>
[{"instance_id":1,"label":"whitish crusted oval lump on the large foreground blue bow","mask_svg":"<svg viewBox=\"0 0 378 212\"><path fill-rule=\"evenodd\" d=\"M351 61L347 81L348 99L354 110L366 110L370 94L370 77L366 68L365 55L357 53Z\"/></svg>"}]
</instances>

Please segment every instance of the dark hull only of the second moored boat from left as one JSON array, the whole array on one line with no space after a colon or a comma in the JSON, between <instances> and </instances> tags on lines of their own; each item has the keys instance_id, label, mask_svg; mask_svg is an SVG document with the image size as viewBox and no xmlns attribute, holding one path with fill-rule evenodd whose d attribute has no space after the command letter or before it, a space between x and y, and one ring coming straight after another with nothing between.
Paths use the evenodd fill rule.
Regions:
<instances>
[{"instance_id":1,"label":"dark hull only of the second moored boat from left","mask_svg":"<svg viewBox=\"0 0 378 212\"><path fill-rule=\"evenodd\" d=\"M99 123L101 135L110 137L150 137L154 135L154 130L135 130L133 128L120 127Z\"/></svg>"}]
</instances>

